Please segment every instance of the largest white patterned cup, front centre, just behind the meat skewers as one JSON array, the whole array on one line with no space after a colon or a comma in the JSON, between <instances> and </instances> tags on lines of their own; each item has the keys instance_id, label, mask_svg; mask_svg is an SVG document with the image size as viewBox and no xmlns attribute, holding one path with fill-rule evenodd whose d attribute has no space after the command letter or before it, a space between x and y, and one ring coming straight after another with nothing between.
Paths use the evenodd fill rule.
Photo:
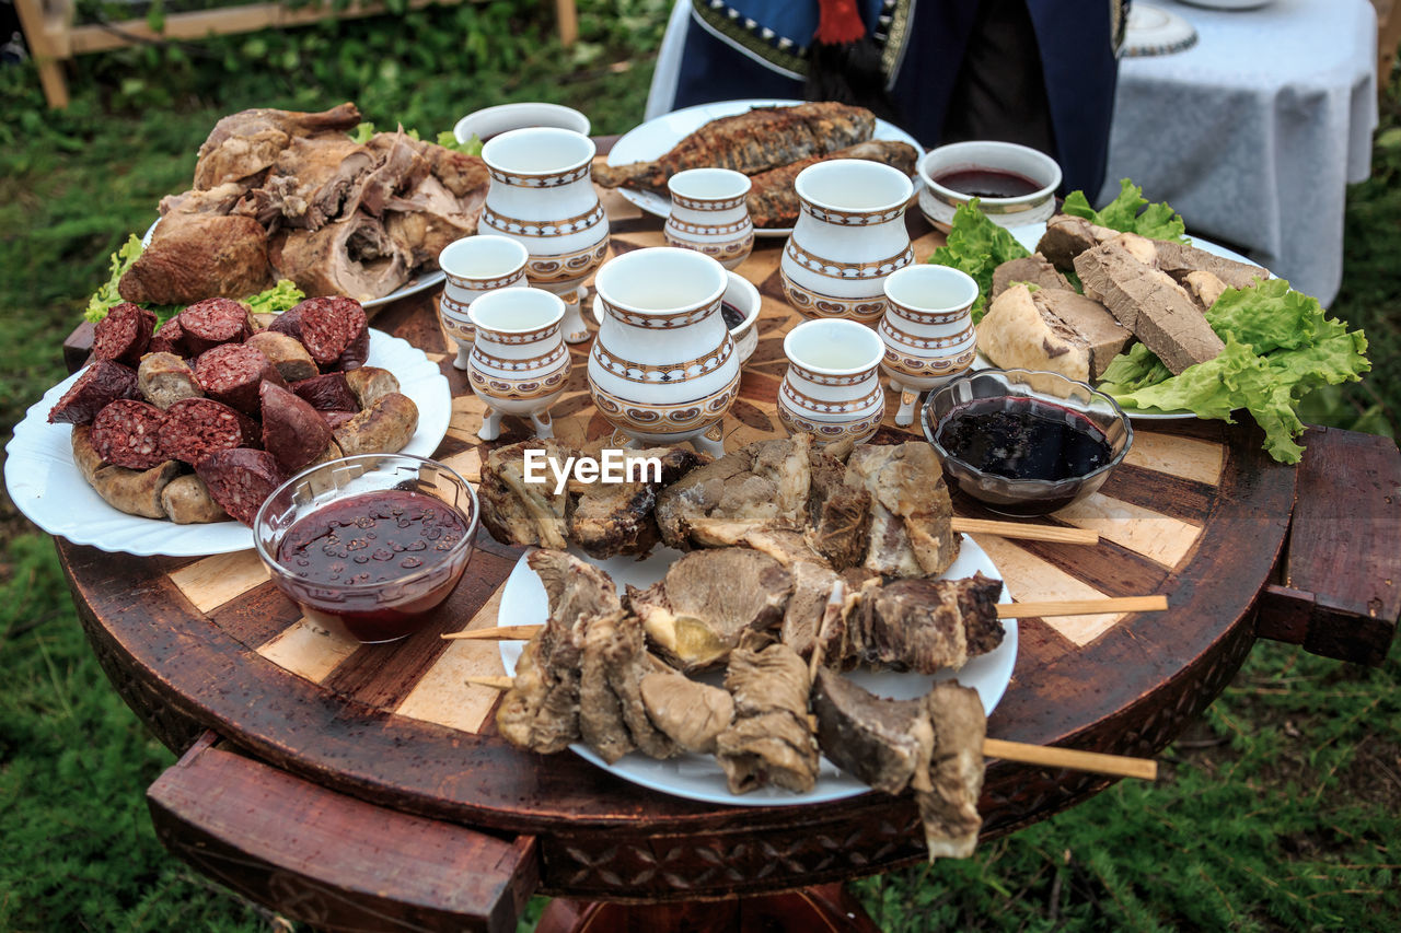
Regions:
<instances>
[{"instance_id":1,"label":"largest white patterned cup, front centre, just behind the meat skewers","mask_svg":"<svg viewBox=\"0 0 1401 933\"><path fill-rule=\"evenodd\" d=\"M720 317L729 283L719 262L674 247L626 252L598 270L604 319L588 391L629 444L691 441L724 454L720 423L740 391L740 354Z\"/></svg>"}]
</instances>

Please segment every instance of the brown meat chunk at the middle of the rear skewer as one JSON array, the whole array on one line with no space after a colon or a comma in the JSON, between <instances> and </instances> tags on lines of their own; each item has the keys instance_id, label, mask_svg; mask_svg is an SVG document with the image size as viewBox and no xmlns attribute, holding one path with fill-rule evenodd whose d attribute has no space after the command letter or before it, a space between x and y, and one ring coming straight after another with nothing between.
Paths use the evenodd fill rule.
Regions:
<instances>
[{"instance_id":1,"label":"brown meat chunk at the middle of the rear skewer","mask_svg":"<svg viewBox=\"0 0 1401 933\"><path fill-rule=\"evenodd\" d=\"M758 530L801 530L813 438L747 444L667 486L657 496L661 539L679 549L726 546Z\"/></svg>"}]
</instances>

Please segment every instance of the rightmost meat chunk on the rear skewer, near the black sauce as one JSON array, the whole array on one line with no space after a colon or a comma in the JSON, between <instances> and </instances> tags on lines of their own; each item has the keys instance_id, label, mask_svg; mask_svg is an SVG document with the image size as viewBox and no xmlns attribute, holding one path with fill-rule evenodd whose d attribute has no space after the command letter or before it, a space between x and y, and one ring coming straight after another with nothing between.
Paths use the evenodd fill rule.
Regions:
<instances>
[{"instance_id":1,"label":"rightmost meat chunk on the rear skewer, near the black sauce","mask_svg":"<svg viewBox=\"0 0 1401 933\"><path fill-rule=\"evenodd\" d=\"M929 444L860 444L846 458L846 483L871 497L867 570L887 577L936 576L957 560L953 502Z\"/></svg>"}]
</instances>

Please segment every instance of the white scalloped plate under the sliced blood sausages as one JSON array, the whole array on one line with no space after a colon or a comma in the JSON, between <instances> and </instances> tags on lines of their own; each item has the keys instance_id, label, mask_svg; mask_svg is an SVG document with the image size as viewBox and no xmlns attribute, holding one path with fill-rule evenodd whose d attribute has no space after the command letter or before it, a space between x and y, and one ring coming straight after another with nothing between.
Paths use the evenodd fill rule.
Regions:
<instances>
[{"instance_id":1,"label":"white scalloped plate under the sliced blood sausages","mask_svg":"<svg viewBox=\"0 0 1401 933\"><path fill-rule=\"evenodd\" d=\"M401 391L419 406L419 427L402 452L432 457L453 415L447 377L423 350L374 328L367 363L394 373ZM252 530L233 520L177 525L129 516L106 504L73 465L73 426L48 420L49 409L78 375L74 373L31 405L6 445L4 482L10 499L29 521L73 544L140 556L191 558L254 546Z\"/></svg>"}]
</instances>

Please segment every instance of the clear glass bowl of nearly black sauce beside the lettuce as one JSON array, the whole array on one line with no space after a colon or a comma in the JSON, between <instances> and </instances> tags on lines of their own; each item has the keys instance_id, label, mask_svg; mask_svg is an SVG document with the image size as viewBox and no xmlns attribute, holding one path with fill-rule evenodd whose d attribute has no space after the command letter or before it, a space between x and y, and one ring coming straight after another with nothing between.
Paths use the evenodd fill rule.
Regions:
<instances>
[{"instance_id":1,"label":"clear glass bowl of nearly black sauce beside the lettuce","mask_svg":"<svg viewBox=\"0 0 1401 933\"><path fill-rule=\"evenodd\" d=\"M948 482L1005 516L1044 516L1094 493L1129 452L1112 398L1058 373L979 370L932 392L925 437Z\"/></svg>"}]
</instances>

